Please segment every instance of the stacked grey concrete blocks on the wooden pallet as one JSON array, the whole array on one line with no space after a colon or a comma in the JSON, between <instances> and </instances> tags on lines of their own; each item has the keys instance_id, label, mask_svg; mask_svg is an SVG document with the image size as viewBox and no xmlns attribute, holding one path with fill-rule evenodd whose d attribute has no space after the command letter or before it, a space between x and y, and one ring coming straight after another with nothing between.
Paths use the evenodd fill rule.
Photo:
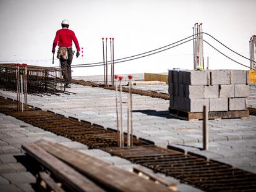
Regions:
<instances>
[{"instance_id":1,"label":"stacked grey concrete blocks on the wooden pallet","mask_svg":"<svg viewBox=\"0 0 256 192\"><path fill-rule=\"evenodd\" d=\"M169 70L170 108L186 112L246 110L246 70Z\"/></svg>"}]
</instances>

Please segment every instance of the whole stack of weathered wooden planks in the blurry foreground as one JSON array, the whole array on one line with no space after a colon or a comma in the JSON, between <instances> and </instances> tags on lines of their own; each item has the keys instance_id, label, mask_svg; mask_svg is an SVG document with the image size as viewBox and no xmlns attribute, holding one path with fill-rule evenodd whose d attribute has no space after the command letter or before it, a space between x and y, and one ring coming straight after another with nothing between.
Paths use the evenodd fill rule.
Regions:
<instances>
[{"instance_id":1,"label":"whole stack of weathered wooden planks in the blurry foreground","mask_svg":"<svg viewBox=\"0 0 256 192\"><path fill-rule=\"evenodd\" d=\"M41 188L53 191L170 191L134 173L59 143L40 140L22 146L50 173L38 173ZM54 182L58 180L58 182Z\"/></svg>"}]
</instances>

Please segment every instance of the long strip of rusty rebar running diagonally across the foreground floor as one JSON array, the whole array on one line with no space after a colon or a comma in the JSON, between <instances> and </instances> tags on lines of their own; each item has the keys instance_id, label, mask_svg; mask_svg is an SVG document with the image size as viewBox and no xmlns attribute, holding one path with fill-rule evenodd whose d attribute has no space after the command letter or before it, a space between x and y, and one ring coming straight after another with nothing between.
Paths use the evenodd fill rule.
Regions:
<instances>
[{"instance_id":1,"label":"long strip of rusty rebar running diagonally across the foreground floor","mask_svg":"<svg viewBox=\"0 0 256 192\"><path fill-rule=\"evenodd\" d=\"M137 138L134 138L133 148L117 148L117 132L114 130L106 130L100 125L79 122L77 119L34 108L25 112L16 112L16 106L14 101L0 98L1 113L57 135L66 136L70 140L86 144L89 148L101 148L202 190L256 191L256 175L253 173L220 162L186 155L173 149L160 148Z\"/></svg>"}]
</instances>

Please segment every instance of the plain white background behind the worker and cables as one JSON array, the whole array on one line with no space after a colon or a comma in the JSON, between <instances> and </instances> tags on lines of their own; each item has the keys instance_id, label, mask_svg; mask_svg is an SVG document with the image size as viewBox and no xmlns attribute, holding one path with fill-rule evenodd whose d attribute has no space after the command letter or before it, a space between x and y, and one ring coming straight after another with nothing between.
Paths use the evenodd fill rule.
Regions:
<instances>
[{"instance_id":1,"label":"plain white background behind the worker and cables","mask_svg":"<svg viewBox=\"0 0 256 192\"><path fill-rule=\"evenodd\" d=\"M51 47L61 21L68 19L84 57L72 64L103 61L102 37L114 37L115 59L150 51L192 35L195 22L203 31L249 57L249 38L256 35L255 0L86 0L30 1L0 0L0 61L51 64ZM228 56L249 65L212 43ZM75 46L73 44L75 49ZM204 44L210 69L246 69L221 56ZM174 49L136 61L116 64L116 73L167 72L193 67L192 41ZM110 56L110 55L109 55ZM103 67L73 69L73 75L100 75Z\"/></svg>"}]
</instances>

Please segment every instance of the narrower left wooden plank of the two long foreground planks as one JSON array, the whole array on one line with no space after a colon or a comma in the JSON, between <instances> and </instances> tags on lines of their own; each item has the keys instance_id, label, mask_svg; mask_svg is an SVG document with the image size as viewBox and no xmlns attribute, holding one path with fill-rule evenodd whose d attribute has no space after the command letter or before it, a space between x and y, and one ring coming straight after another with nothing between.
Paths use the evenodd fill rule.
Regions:
<instances>
[{"instance_id":1,"label":"narrower left wooden plank of the two long foreground planks","mask_svg":"<svg viewBox=\"0 0 256 192\"><path fill-rule=\"evenodd\" d=\"M36 159L36 161L40 162L40 164L44 165L56 178L63 181L70 190L90 192L105 191L64 162L59 161L59 159L40 148L40 146L30 143L22 145L22 149L26 151L28 155ZM67 152L67 155L69 155L69 152Z\"/></svg>"}]
</instances>

